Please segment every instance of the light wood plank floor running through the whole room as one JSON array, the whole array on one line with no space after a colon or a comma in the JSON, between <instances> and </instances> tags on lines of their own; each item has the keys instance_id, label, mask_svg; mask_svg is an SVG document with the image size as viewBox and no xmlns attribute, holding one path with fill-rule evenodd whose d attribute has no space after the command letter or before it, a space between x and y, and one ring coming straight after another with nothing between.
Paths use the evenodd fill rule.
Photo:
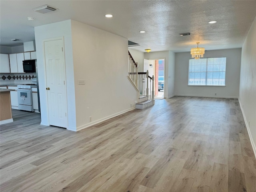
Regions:
<instances>
[{"instance_id":1,"label":"light wood plank floor running through the whole room","mask_svg":"<svg viewBox=\"0 0 256 192\"><path fill-rule=\"evenodd\" d=\"M156 100L71 132L13 112L1 126L1 192L255 192L237 99Z\"/></svg>"}]
</instances>

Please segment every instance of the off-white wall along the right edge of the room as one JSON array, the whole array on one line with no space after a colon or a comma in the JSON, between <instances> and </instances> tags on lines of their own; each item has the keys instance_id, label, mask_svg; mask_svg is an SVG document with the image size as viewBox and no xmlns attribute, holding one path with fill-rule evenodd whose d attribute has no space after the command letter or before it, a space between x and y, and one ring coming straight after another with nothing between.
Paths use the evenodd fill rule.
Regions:
<instances>
[{"instance_id":1,"label":"off-white wall along the right edge of the room","mask_svg":"<svg viewBox=\"0 0 256 192\"><path fill-rule=\"evenodd\" d=\"M242 46L239 102L256 156L256 18ZM250 126L249 126L250 121Z\"/></svg>"}]
</instances>

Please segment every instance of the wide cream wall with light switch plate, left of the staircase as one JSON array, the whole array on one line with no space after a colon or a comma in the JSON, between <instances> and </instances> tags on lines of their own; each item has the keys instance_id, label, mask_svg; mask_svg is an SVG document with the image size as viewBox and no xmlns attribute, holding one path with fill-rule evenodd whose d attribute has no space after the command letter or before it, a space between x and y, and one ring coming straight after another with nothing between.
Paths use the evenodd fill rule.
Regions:
<instances>
[{"instance_id":1,"label":"wide cream wall with light switch plate, left of the staircase","mask_svg":"<svg viewBox=\"0 0 256 192\"><path fill-rule=\"evenodd\" d=\"M133 109L137 93L127 78L128 40L74 20L71 27L76 126L80 130ZM79 79L86 84L78 85Z\"/></svg>"}]
</instances>

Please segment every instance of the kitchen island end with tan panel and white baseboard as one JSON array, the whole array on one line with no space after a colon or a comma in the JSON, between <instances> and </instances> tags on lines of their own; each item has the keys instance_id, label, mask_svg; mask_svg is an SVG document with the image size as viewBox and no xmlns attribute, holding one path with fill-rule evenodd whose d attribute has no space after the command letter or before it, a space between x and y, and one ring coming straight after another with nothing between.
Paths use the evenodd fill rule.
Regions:
<instances>
[{"instance_id":1,"label":"kitchen island end with tan panel and white baseboard","mask_svg":"<svg viewBox=\"0 0 256 192\"><path fill-rule=\"evenodd\" d=\"M0 88L0 125L13 122L10 91L15 90Z\"/></svg>"}]
</instances>

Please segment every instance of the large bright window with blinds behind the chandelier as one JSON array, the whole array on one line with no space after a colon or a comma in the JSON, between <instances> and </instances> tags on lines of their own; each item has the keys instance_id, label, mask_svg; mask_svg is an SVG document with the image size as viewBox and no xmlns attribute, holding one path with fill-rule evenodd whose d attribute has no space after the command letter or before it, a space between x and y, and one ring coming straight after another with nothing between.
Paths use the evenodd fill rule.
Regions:
<instances>
[{"instance_id":1,"label":"large bright window with blinds behind the chandelier","mask_svg":"<svg viewBox=\"0 0 256 192\"><path fill-rule=\"evenodd\" d=\"M188 85L225 86L226 57L189 60Z\"/></svg>"}]
</instances>

